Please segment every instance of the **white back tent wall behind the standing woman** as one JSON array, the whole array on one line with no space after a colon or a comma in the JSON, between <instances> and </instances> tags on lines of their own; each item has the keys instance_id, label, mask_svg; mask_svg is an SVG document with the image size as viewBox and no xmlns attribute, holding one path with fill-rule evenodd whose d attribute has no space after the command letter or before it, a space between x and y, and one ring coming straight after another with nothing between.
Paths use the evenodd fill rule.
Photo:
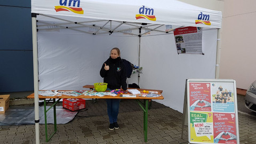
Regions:
<instances>
[{"instance_id":1,"label":"white back tent wall behind the standing woman","mask_svg":"<svg viewBox=\"0 0 256 144\"><path fill-rule=\"evenodd\" d=\"M138 37L43 31L38 37L39 90L83 90L103 82L100 68L113 47L138 65Z\"/></svg>"}]
</instances>

